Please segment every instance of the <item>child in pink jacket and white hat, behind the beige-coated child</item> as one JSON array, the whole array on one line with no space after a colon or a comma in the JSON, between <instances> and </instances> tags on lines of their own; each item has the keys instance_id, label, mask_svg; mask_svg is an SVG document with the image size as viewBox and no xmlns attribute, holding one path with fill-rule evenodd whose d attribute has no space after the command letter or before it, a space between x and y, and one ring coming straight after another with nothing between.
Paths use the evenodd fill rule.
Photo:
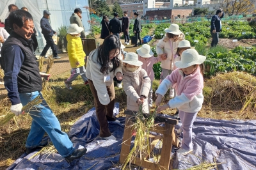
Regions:
<instances>
[{"instance_id":1,"label":"child in pink jacket and white hat, behind the beige-coated child","mask_svg":"<svg viewBox=\"0 0 256 170\"><path fill-rule=\"evenodd\" d=\"M152 84L155 79L155 73L153 70L153 65L162 61L163 59L166 59L166 57L163 56L163 59L161 56L158 56L157 58L154 57L154 52L152 52L151 48L149 45L144 44L140 49L137 50L138 56L139 56L139 61L141 61L143 64L141 65L141 68L146 70L148 73L148 77L150 78L151 81L151 88L150 92L148 94L148 104L150 107L152 107L152 95L153 95L153 90L152 90Z\"/></svg>"}]
</instances>

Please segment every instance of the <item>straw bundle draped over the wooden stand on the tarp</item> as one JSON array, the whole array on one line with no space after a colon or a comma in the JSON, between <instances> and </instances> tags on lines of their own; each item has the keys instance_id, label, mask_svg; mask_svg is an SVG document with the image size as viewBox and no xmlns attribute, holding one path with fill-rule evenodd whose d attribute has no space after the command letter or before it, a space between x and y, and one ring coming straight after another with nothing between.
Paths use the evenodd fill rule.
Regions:
<instances>
[{"instance_id":1,"label":"straw bundle draped over the wooden stand on the tarp","mask_svg":"<svg viewBox=\"0 0 256 170\"><path fill-rule=\"evenodd\" d=\"M139 111L136 114L136 121L131 125L132 130L136 131L136 137L134 139L134 146L132 150L130 151L129 155L127 155L127 158L122 166L122 169L125 169L128 163L131 164L134 158L140 157L140 159L143 159L143 155L150 155L150 141L149 141L149 135L150 131L152 131L152 128L154 126L154 120L157 114L157 108L156 110L147 118L143 116L142 112L142 105L139 107Z\"/></svg>"}]
</instances>

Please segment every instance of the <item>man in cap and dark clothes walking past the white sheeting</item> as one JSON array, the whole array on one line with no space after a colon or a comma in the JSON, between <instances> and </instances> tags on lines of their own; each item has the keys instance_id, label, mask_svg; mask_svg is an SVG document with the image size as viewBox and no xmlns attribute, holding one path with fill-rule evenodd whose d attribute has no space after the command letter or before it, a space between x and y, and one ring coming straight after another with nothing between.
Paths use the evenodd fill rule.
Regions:
<instances>
[{"instance_id":1,"label":"man in cap and dark clothes walking past the white sheeting","mask_svg":"<svg viewBox=\"0 0 256 170\"><path fill-rule=\"evenodd\" d=\"M49 22L51 13L47 10L44 10L44 17L40 20L40 26L42 28L42 34L44 35L44 38L46 40L46 45L44 47L44 50L41 52L40 56L44 56L45 58L48 58L45 56L47 50L51 47L52 54L54 59L60 59L60 57L57 54L56 45L52 39L53 34L56 34L56 31L54 31L51 27L51 24Z\"/></svg>"}]
</instances>

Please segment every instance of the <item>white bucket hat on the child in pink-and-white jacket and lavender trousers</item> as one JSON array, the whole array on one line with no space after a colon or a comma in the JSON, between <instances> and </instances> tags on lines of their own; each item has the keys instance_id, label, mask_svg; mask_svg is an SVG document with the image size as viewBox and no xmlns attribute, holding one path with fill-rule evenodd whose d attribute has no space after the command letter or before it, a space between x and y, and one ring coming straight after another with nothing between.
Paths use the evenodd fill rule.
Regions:
<instances>
[{"instance_id":1,"label":"white bucket hat on the child in pink-and-white jacket and lavender trousers","mask_svg":"<svg viewBox=\"0 0 256 170\"><path fill-rule=\"evenodd\" d=\"M206 57L201 56L195 49L184 50L181 54L181 60L175 62L178 68L187 68L192 65L200 65L204 63Z\"/></svg>"}]
</instances>

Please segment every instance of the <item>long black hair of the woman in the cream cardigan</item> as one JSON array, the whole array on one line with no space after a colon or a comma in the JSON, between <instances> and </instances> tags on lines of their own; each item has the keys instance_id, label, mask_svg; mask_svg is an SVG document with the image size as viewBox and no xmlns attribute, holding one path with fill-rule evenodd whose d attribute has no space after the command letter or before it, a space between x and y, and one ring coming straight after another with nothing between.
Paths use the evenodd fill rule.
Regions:
<instances>
[{"instance_id":1,"label":"long black hair of the woman in the cream cardigan","mask_svg":"<svg viewBox=\"0 0 256 170\"><path fill-rule=\"evenodd\" d=\"M120 49L120 40L115 35L109 35L105 38L104 42L98 48L98 59L100 61L100 72L101 73L108 73L109 62L111 61L113 68L110 72L115 72L116 68L120 66L120 60L118 58L109 59L109 51L113 49Z\"/></svg>"}]
</instances>

